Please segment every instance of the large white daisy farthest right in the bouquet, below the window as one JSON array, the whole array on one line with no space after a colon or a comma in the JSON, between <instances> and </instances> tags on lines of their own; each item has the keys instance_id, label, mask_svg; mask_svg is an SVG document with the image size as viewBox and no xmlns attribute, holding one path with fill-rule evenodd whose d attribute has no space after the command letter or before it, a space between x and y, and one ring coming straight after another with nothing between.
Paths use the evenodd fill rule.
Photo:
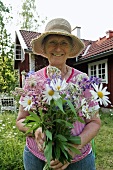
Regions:
<instances>
[{"instance_id":1,"label":"large white daisy farthest right in the bouquet, below the window","mask_svg":"<svg viewBox=\"0 0 113 170\"><path fill-rule=\"evenodd\" d=\"M106 91L107 87L104 87L103 88L103 84L101 83L100 84L100 87L99 85L96 85L96 84L93 84L92 85L94 87L94 90L90 90L91 94L93 95L93 98L94 100L97 100L97 102L100 103L100 105L104 105L104 106L107 106L108 103L111 103L108 99L108 94L110 94L110 92ZM103 88L103 89L102 89Z\"/></svg>"}]
</instances>

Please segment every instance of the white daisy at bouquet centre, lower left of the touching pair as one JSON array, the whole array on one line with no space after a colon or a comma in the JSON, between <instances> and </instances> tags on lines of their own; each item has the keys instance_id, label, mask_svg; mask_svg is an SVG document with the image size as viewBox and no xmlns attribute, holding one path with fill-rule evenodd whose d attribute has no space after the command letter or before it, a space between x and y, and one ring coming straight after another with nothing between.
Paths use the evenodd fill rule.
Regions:
<instances>
[{"instance_id":1,"label":"white daisy at bouquet centre, lower left of the touching pair","mask_svg":"<svg viewBox=\"0 0 113 170\"><path fill-rule=\"evenodd\" d=\"M48 104L50 104L50 101L52 99L59 99L61 96L59 95L59 93L57 91L54 91L53 88L51 88L48 84L46 84L46 89L43 92L43 101L46 101Z\"/></svg>"}]
</instances>

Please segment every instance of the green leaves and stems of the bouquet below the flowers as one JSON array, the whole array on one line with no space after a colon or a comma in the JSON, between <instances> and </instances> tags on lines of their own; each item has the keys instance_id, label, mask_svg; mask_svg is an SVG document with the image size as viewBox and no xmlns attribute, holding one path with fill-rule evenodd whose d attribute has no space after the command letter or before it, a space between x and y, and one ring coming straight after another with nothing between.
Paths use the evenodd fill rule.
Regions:
<instances>
[{"instance_id":1,"label":"green leaves and stems of the bouquet below the flowers","mask_svg":"<svg viewBox=\"0 0 113 170\"><path fill-rule=\"evenodd\" d=\"M62 163L71 162L72 156L68 152L69 150L80 154L80 151L72 145L81 144L80 137L70 135L71 128L73 128L72 124L78 120L78 116L73 104L65 100L65 95L57 100L51 100L46 110L40 109L29 113L30 115L24 121L25 126L29 127L27 133L35 132L39 127L42 127L42 130L46 133L44 155L48 165L50 165L51 158L53 160L58 159Z\"/></svg>"}]
</instances>

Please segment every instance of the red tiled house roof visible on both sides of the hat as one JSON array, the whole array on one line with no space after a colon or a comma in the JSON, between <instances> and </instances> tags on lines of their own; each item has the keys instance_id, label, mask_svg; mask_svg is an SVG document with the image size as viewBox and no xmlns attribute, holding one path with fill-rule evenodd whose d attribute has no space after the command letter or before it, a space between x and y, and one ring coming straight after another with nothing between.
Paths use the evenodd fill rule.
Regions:
<instances>
[{"instance_id":1,"label":"red tiled house roof visible on both sides of the hat","mask_svg":"<svg viewBox=\"0 0 113 170\"><path fill-rule=\"evenodd\" d=\"M19 30L28 50L32 51L31 40L40 35L38 32ZM85 48L82 51L79 60L86 60L92 57L96 57L98 54L109 52L113 50L113 31L106 32L106 36L99 38L96 41L82 39Z\"/></svg>"}]
</instances>

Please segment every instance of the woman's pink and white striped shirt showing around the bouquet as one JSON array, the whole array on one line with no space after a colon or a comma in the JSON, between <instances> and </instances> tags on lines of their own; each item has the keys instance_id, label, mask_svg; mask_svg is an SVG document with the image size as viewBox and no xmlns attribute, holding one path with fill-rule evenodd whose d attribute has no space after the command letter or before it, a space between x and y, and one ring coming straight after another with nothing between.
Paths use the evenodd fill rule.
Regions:
<instances>
[{"instance_id":1,"label":"woman's pink and white striped shirt showing around the bouquet","mask_svg":"<svg viewBox=\"0 0 113 170\"><path fill-rule=\"evenodd\" d=\"M82 72L72 68L72 72L71 75L69 76L69 78L67 79L67 82L71 82L73 76L77 76L78 74L81 74ZM35 74L37 74L38 76L40 76L40 78L42 80L45 80L47 78L47 74L46 74L46 67L37 71ZM92 103L92 106L97 105L97 103ZM84 118L83 118L84 119ZM74 128L72 129L72 134L75 136L78 136L83 129L85 128L85 123L80 123L80 122L75 122L74 123ZM44 154L38 151L38 147L37 144L35 142L35 139L33 137L26 137L26 145L29 148L29 150L39 159L41 160L45 160ZM90 143L88 143L87 145L85 145L82 149L81 149L81 154L80 155L75 155L74 159L72 160L72 162L77 162L81 159L83 159L84 157L86 157L88 155L88 153L91 150L91 145Z\"/></svg>"}]
</instances>

